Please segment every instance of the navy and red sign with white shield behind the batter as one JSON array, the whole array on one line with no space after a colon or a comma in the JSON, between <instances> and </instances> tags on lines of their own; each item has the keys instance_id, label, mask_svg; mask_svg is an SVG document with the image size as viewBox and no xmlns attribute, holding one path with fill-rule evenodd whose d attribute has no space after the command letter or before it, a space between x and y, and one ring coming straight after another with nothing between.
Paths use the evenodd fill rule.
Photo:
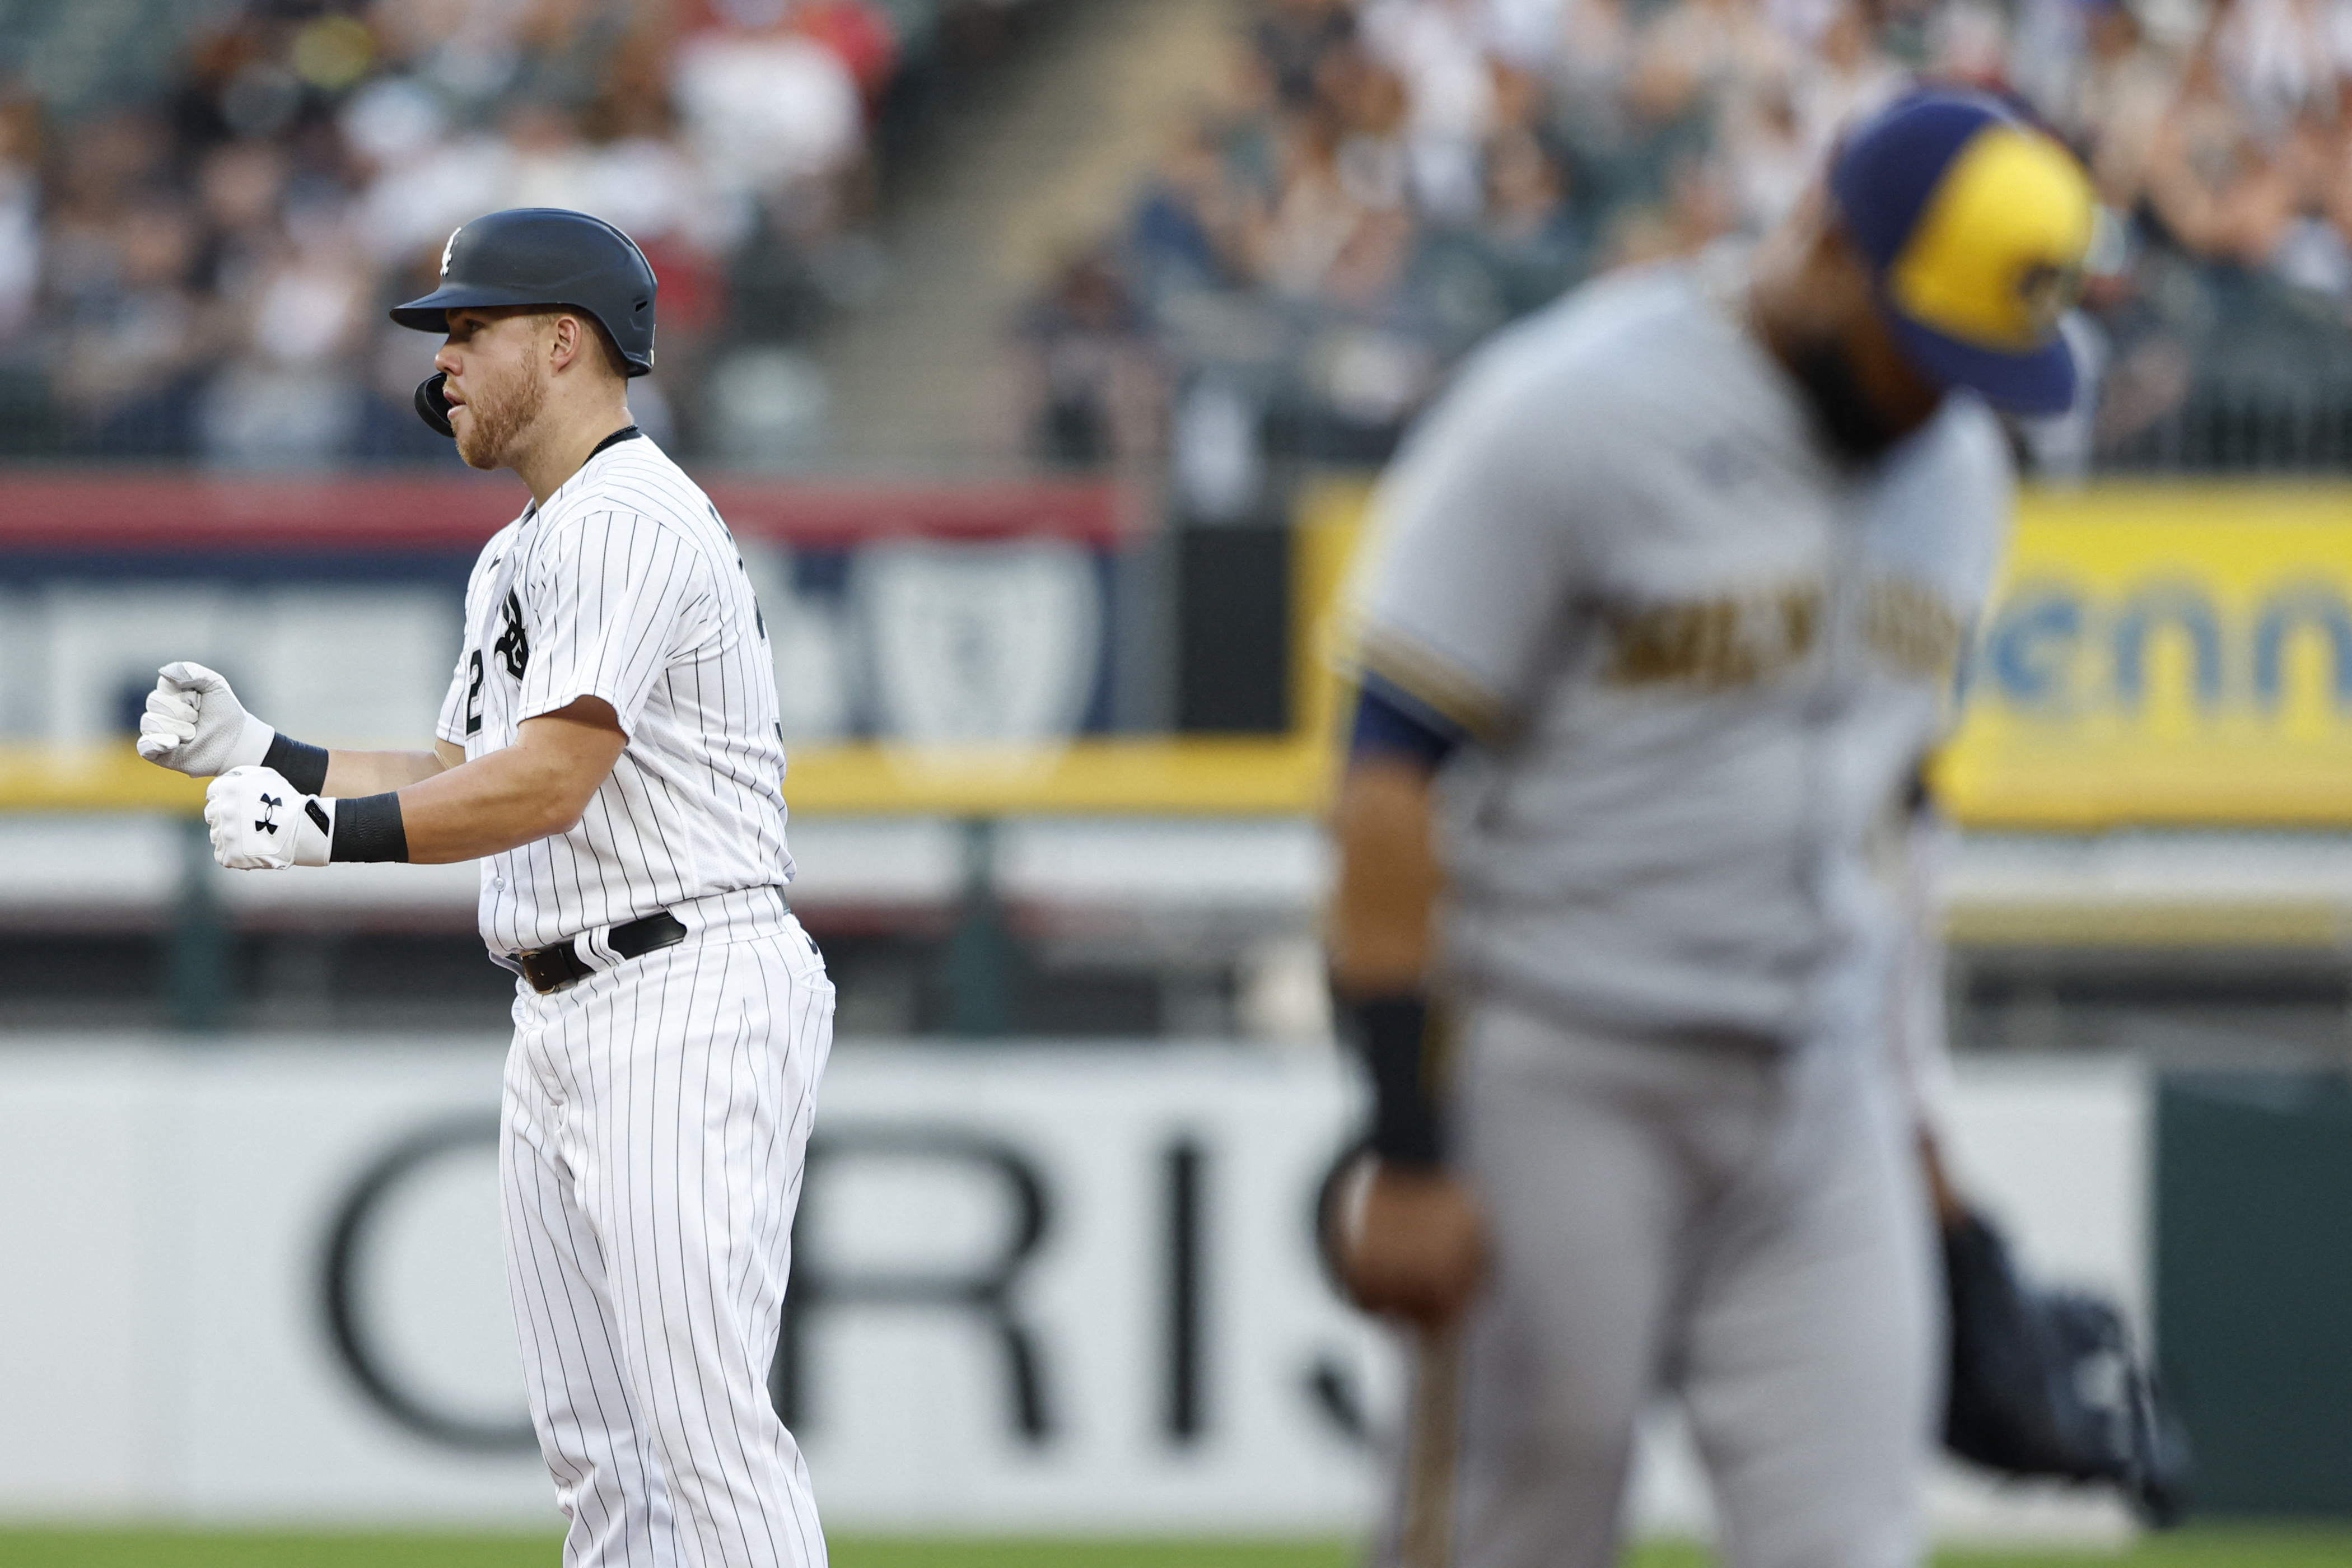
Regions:
<instances>
[{"instance_id":1,"label":"navy and red sign with white shield behind the batter","mask_svg":"<svg viewBox=\"0 0 2352 1568\"><path fill-rule=\"evenodd\" d=\"M1112 724L1108 484L713 482L800 745L1040 745ZM103 748L167 658L287 733L419 745L466 574L527 496L482 480L0 480L0 745Z\"/></svg>"}]
</instances>

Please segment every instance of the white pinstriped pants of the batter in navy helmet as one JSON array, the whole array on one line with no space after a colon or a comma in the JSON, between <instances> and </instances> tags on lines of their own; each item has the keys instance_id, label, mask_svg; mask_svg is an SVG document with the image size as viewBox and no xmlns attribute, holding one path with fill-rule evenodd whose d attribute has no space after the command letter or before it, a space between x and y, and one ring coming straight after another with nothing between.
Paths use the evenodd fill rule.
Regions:
<instances>
[{"instance_id":1,"label":"white pinstriped pants of the batter in navy helmet","mask_svg":"<svg viewBox=\"0 0 2352 1568\"><path fill-rule=\"evenodd\" d=\"M830 1046L788 914L517 987L506 1267L564 1568L823 1568L767 1368Z\"/></svg>"}]
</instances>

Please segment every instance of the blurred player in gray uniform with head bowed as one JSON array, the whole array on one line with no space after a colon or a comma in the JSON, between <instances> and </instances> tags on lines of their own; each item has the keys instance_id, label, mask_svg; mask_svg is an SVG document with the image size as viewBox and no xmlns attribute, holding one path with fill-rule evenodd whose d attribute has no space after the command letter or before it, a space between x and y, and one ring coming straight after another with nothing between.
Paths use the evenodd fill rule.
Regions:
<instances>
[{"instance_id":1,"label":"blurred player in gray uniform with head bowed","mask_svg":"<svg viewBox=\"0 0 2352 1568\"><path fill-rule=\"evenodd\" d=\"M1331 973L1376 1086L1338 1267L1428 1352L1392 1561L1613 1561L1661 1389L1733 1568L1919 1561L1877 846L2002 548L1985 404L2072 400L2091 228L2056 141L1912 92L1752 254L1482 350L1388 475Z\"/></svg>"}]
</instances>

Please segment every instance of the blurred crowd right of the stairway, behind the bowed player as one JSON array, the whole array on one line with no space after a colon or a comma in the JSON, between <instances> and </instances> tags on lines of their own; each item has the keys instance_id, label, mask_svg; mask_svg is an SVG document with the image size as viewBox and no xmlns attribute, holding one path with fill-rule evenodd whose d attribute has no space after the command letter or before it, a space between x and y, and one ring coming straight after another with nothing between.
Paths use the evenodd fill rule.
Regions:
<instances>
[{"instance_id":1,"label":"blurred crowd right of the stairway, behind the bowed player","mask_svg":"<svg viewBox=\"0 0 2352 1568\"><path fill-rule=\"evenodd\" d=\"M1559 289L1759 233L1915 75L2030 106L2117 219L2032 463L2352 465L2352 0L1254 0L1235 101L1023 322L1033 449L1164 440L1247 515Z\"/></svg>"}]
</instances>

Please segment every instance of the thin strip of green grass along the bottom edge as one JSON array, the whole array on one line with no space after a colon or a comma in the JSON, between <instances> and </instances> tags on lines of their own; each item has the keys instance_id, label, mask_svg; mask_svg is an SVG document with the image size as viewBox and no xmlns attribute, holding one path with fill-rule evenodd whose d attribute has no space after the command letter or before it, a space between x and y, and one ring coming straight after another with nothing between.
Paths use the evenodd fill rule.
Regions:
<instances>
[{"instance_id":1,"label":"thin strip of green grass along the bottom edge","mask_svg":"<svg viewBox=\"0 0 2352 1568\"><path fill-rule=\"evenodd\" d=\"M1343 1542L870 1540L835 1568L1348 1568ZM1625 1568L1705 1568L1693 1547L1644 1547ZM0 1530L0 1568L553 1568L548 1535L245 1535ZM1952 1552L1936 1568L2352 1568L2345 1530L2183 1530L2129 1552Z\"/></svg>"}]
</instances>

